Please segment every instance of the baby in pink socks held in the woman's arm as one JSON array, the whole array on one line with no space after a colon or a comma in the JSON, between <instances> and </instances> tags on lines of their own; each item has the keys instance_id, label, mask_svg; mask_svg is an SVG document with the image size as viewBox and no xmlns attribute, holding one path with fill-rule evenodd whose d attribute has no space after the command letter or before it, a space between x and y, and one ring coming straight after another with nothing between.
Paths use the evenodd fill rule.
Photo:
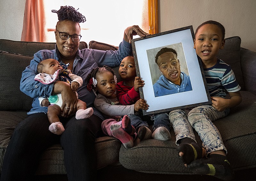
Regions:
<instances>
[{"instance_id":1,"label":"baby in pink socks held in the woman's arm","mask_svg":"<svg viewBox=\"0 0 256 181\"><path fill-rule=\"evenodd\" d=\"M39 74L35 76L35 80L43 84L64 81L69 83L71 89L76 92L76 90L82 86L83 79L80 76L71 74L71 71L67 69L68 65L69 64L62 67L60 62L55 59L45 59L37 66L37 72ZM61 135L65 130L59 119L62 106L61 93L51 95L48 98L39 97L38 99L40 106L48 107L47 116L51 123L49 130L54 134ZM69 109L70 107L66 108ZM86 103L80 99L77 100L76 109L76 119L86 119L93 114L92 107L86 109Z\"/></svg>"}]
</instances>

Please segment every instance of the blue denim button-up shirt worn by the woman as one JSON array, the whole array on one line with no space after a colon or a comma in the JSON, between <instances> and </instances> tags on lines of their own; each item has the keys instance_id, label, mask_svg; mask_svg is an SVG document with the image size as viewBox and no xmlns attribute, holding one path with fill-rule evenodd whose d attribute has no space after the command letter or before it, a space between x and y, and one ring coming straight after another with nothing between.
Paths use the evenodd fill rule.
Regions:
<instances>
[{"instance_id":1,"label":"blue denim button-up shirt worn by the woman","mask_svg":"<svg viewBox=\"0 0 256 181\"><path fill-rule=\"evenodd\" d=\"M124 57L132 54L132 46L130 43L123 40L119 44L117 51L101 51L93 49L77 50L76 58L73 64L73 74L76 74L83 79L83 85L77 90L78 98L86 102L87 107L93 107L95 95L93 92L87 90L87 75L95 67L102 67L107 65L109 67L119 66ZM52 94L54 84L43 84L35 81L34 78L37 72L37 65L44 59L56 59L61 62L60 53L57 45L55 50L40 50L34 54L34 59L31 60L30 65L22 72L20 80L20 90L34 98L32 109L28 114L47 113L47 107L41 107L38 97L49 97ZM93 108L94 114L104 119L101 113Z\"/></svg>"}]
</instances>

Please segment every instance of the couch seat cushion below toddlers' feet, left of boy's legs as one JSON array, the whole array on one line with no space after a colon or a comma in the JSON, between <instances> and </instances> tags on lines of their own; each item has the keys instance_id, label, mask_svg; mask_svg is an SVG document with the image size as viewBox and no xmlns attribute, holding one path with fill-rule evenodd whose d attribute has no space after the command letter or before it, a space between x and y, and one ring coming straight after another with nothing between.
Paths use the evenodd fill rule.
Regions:
<instances>
[{"instance_id":1,"label":"couch seat cushion below toddlers' feet, left of boy's legs","mask_svg":"<svg viewBox=\"0 0 256 181\"><path fill-rule=\"evenodd\" d=\"M145 173L191 174L177 157L174 138L172 130L170 141L136 139L130 149L121 146L119 161L127 169Z\"/></svg>"}]
</instances>

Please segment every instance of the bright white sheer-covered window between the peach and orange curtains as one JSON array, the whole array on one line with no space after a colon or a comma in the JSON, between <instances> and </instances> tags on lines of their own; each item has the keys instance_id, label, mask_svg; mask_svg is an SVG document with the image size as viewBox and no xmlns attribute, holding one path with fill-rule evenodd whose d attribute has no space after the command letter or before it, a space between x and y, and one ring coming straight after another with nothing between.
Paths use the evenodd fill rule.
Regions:
<instances>
[{"instance_id":1,"label":"bright white sheer-covered window between the peach and orange curtains","mask_svg":"<svg viewBox=\"0 0 256 181\"><path fill-rule=\"evenodd\" d=\"M44 0L45 42L55 42L54 30L58 17L52 10L59 10L60 6L65 5L78 9L85 16L86 21L80 23L80 41L87 44L95 40L118 46L124 36L124 29L132 25L139 25L145 32L149 31L148 0Z\"/></svg>"}]
</instances>

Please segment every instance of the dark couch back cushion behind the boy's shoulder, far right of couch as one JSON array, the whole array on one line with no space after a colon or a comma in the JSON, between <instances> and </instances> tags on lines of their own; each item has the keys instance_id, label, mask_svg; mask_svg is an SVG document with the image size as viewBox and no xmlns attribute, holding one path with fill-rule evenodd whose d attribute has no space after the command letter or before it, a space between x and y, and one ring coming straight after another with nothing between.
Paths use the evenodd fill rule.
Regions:
<instances>
[{"instance_id":1,"label":"dark couch back cushion behind the boy's shoulder, far right of couch","mask_svg":"<svg viewBox=\"0 0 256 181\"><path fill-rule=\"evenodd\" d=\"M244 90L244 80L240 64L240 45L241 38L233 36L225 38L224 49L219 50L217 57L231 66L241 90Z\"/></svg>"}]
</instances>

